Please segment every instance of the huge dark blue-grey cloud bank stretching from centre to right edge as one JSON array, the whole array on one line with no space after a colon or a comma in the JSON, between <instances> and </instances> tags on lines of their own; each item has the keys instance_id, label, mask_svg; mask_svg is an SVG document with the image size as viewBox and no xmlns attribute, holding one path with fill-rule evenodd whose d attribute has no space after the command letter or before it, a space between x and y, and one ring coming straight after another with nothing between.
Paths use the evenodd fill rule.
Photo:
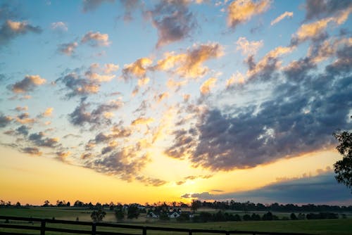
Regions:
<instances>
[{"instance_id":1,"label":"huge dark blue-grey cloud bank stretching from centre to right edge","mask_svg":"<svg viewBox=\"0 0 352 235\"><path fill-rule=\"evenodd\" d=\"M327 72L314 75L309 71L315 66L303 58L284 71L282 80L275 80L270 99L258 105L206 110L192 127L195 134L175 132L165 153L180 159L189 155L194 167L215 171L255 167L334 146L332 132L352 129L350 53L345 46Z\"/></svg>"}]
</instances>

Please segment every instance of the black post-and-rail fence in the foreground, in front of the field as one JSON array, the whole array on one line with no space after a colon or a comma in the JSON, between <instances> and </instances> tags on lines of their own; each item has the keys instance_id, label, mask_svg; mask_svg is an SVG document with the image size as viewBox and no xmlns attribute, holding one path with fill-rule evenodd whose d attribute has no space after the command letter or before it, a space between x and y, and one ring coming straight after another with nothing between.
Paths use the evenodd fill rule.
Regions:
<instances>
[{"instance_id":1,"label":"black post-and-rail fence in the foreground, in front of the field","mask_svg":"<svg viewBox=\"0 0 352 235\"><path fill-rule=\"evenodd\" d=\"M27 217L13 217L13 216L0 216L0 235L20 235L30 234L28 232L33 231L32 235L45 235L46 231L67 233L67 234L91 234L91 235L135 235L135 234L151 234L153 231L164 231L167 232L180 232L180 234L253 234L253 235L312 235L302 233L282 233L282 232L264 232L264 231L226 231L226 230L208 230L208 229L179 229L179 228L167 228L167 227L151 227L151 226L138 226L130 224L108 224L108 223L94 223L94 222L78 222L68 220L49 220L39 218L27 218ZM27 223L27 225L24 225ZM50 227L54 224L64 224L60 227ZM77 228L67 228L77 225ZM66 228L64 228L66 227ZM84 227L84 229L82 229ZM132 229L133 231L126 231ZM109 231L103 231L109 230ZM122 232L122 231L123 232ZM119 232L120 231L120 232ZM128 233L132 232L132 233ZM136 233L137 232L137 233Z\"/></svg>"}]
</instances>

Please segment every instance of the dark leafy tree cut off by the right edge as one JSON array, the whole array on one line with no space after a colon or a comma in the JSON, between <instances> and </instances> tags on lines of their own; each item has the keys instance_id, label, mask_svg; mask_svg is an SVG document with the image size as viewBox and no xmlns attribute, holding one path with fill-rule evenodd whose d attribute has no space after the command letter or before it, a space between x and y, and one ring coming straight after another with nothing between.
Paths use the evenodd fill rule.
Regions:
<instances>
[{"instance_id":1,"label":"dark leafy tree cut off by the right edge","mask_svg":"<svg viewBox=\"0 0 352 235\"><path fill-rule=\"evenodd\" d=\"M334 164L335 178L351 189L352 193L352 132L337 131L333 135L339 141L336 148L342 155L342 160Z\"/></svg>"}]
</instances>

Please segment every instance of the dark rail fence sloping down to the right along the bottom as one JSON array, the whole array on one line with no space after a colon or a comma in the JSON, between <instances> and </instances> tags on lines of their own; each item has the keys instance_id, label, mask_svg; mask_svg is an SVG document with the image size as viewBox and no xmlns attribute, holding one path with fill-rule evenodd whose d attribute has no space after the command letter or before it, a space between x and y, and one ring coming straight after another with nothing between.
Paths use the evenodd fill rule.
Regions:
<instances>
[{"instance_id":1,"label":"dark rail fence sloping down to the right along the bottom","mask_svg":"<svg viewBox=\"0 0 352 235\"><path fill-rule=\"evenodd\" d=\"M56 231L63 232L67 234L91 234L91 235L136 235L136 234L127 234L125 232L118 232L120 229L137 229L142 234L146 235L147 231L177 231L184 232L189 235L196 235L198 233L203 234L253 234L253 235L313 235L313 234L303 234L303 233L282 233L282 232L272 232L272 231L227 231L227 230L209 230L209 229L180 229L180 228L168 228L168 227L151 227L151 226L139 226L139 225L130 225L130 224L108 224L108 223L95 223L95 222L79 222L79 221L69 221L69 220L49 220L49 219L39 219L39 218L28 218L28 217L13 217L13 216L1 216L0 220L5 220L5 222L0 221L0 228L4 229L20 229L20 230L32 230L40 231L40 235L45 235L46 231ZM19 225L11 224L10 220L15 221L25 221L25 222L37 222L39 226L28 226L28 225ZM48 224L75 224L75 225L85 225L89 227L89 230L82 229L67 229L67 228L54 228L48 227ZM97 228L116 228L116 231L99 231ZM0 235L19 235L20 232L13 231L0 231ZM27 234L27 233L26 233ZM32 234L37 235L37 234ZM315 234L316 235L316 234Z\"/></svg>"}]
</instances>

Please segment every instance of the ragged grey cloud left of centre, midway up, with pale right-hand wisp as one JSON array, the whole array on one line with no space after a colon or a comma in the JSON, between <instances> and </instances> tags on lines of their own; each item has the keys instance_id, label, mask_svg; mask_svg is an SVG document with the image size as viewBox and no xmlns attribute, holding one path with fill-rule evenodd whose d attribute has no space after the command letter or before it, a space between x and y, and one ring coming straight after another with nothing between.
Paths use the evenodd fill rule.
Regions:
<instances>
[{"instance_id":1,"label":"ragged grey cloud left of centre, midway up, with pale right-hand wisp","mask_svg":"<svg viewBox=\"0 0 352 235\"><path fill-rule=\"evenodd\" d=\"M85 99L81 99L80 105L75 108L73 113L68 115L70 122L77 126L84 126L87 123L92 128L111 124L111 120L103 114L118 110L122 106L122 103L120 101L111 101L110 103L100 104L92 112L89 112L89 106L92 106L92 103L87 103Z\"/></svg>"}]
</instances>

